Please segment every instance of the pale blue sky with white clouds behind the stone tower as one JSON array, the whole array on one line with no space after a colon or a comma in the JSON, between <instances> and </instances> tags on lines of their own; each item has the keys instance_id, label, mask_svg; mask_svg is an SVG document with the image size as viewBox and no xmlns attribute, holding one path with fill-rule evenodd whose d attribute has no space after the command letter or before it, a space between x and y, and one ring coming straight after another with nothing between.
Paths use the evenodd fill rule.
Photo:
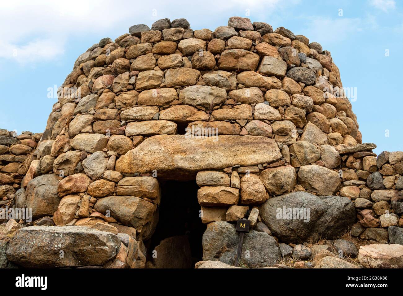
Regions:
<instances>
[{"instance_id":1,"label":"pale blue sky with white clouds behind the stone tower","mask_svg":"<svg viewBox=\"0 0 403 296\"><path fill-rule=\"evenodd\" d=\"M76 58L104 37L162 18L214 30L231 16L319 42L332 53L343 86L356 90L351 103L363 141L376 143L376 153L403 150L403 1L394 0L2 2L0 128L43 132L56 102L48 88L60 86Z\"/></svg>"}]
</instances>

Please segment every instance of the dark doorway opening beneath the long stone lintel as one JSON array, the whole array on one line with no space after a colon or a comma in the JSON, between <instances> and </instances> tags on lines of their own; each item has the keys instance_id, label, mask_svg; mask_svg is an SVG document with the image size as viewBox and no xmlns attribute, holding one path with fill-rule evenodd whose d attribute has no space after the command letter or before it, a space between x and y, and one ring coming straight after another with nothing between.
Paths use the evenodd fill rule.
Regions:
<instances>
[{"instance_id":1,"label":"dark doorway opening beneath the long stone lintel","mask_svg":"<svg viewBox=\"0 0 403 296\"><path fill-rule=\"evenodd\" d=\"M156 230L150 238L147 260L162 268L194 267L202 260L202 223L195 180L160 180L161 203ZM190 251L189 251L190 248ZM156 258L153 258L154 256Z\"/></svg>"}]
</instances>

